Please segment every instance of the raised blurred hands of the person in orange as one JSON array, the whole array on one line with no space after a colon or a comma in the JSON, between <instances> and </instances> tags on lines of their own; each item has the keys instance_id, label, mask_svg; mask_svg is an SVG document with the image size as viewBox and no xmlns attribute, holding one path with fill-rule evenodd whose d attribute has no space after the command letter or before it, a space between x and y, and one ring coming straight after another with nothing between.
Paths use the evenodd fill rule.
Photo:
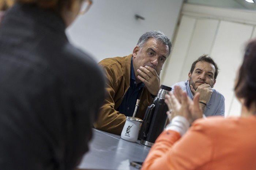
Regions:
<instances>
[{"instance_id":1,"label":"raised blurred hands of the person in orange","mask_svg":"<svg viewBox=\"0 0 256 170\"><path fill-rule=\"evenodd\" d=\"M165 95L165 103L167 104L170 113L167 111L168 118L171 120L177 115L184 116L192 124L194 120L203 117L202 110L199 106L199 93L196 93L191 100L187 93L180 86L175 86L174 91Z\"/></svg>"}]
</instances>

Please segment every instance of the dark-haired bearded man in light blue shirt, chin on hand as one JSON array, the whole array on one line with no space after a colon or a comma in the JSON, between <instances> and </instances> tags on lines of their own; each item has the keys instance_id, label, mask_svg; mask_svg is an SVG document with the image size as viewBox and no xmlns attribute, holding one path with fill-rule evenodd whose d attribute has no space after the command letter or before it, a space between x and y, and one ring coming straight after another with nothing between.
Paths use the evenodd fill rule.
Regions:
<instances>
[{"instance_id":1,"label":"dark-haired bearded man in light blue shirt, chin on hand","mask_svg":"<svg viewBox=\"0 0 256 170\"><path fill-rule=\"evenodd\" d=\"M174 84L172 91L176 85L180 86L191 99L199 92L199 104L205 116L224 116L225 98L213 88L218 74L217 64L209 55L204 54L192 63L188 80Z\"/></svg>"}]
</instances>

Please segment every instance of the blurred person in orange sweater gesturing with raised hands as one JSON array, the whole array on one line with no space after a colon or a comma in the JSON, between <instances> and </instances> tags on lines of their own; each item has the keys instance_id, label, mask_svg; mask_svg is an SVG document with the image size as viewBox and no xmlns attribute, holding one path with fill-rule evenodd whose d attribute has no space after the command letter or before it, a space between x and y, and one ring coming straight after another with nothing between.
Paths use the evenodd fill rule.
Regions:
<instances>
[{"instance_id":1,"label":"blurred person in orange sweater gesturing with raised hands","mask_svg":"<svg viewBox=\"0 0 256 170\"><path fill-rule=\"evenodd\" d=\"M166 95L165 102L172 109L168 116L173 119L157 138L142 169L255 170L255 65L256 39L246 46L235 83L234 91L242 104L241 117L198 119L202 118L200 94L192 101L176 86L173 93Z\"/></svg>"}]
</instances>

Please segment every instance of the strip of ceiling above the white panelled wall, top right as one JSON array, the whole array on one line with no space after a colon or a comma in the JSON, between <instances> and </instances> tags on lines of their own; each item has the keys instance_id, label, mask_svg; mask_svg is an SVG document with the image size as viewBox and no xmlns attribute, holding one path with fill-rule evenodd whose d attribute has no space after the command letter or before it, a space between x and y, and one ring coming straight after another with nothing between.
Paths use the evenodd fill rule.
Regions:
<instances>
[{"instance_id":1,"label":"strip of ceiling above the white panelled wall, top right","mask_svg":"<svg viewBox=\"0 0 256 170\"><path fill-rule=\"evenodd\" d=\"M184 2L188 4L256 11L256 3L248 3L245 0L184 0Z\"/></svg>"}]
</instances>

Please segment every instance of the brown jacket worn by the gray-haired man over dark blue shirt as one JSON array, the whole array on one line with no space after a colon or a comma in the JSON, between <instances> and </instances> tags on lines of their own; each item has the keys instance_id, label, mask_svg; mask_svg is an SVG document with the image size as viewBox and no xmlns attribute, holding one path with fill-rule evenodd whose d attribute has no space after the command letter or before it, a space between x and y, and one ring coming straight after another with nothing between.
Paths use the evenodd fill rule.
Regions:
<instances>
[{"instance_id":1,"label":"brown jacket worn by the gray-haired man over dark blue shirt","mask_svg":"<svg viewBox=\"0 0 256 170\"><path fill-rule=\"evenodd\" d=\"M124 95L130 86L132 55L124 57L107 58L99 62L106 74L106 98L101 107L97 122L94 127L99 130L120 135L125 115L116 111L123 101ZM137 118L143 119L147 107L153 98L147 87L144 87L140 95Z\"/></svg>"}]
</instances>

